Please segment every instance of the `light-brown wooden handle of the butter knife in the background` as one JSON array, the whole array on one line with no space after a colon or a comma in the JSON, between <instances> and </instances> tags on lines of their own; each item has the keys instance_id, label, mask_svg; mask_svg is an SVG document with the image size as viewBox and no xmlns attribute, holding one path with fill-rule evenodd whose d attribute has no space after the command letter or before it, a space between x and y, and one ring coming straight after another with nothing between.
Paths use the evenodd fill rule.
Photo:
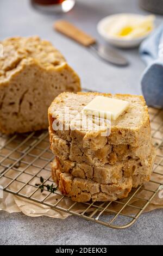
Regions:
<instances>
[{"instance_id":1,"label":"light-brown wooden handle of the butter knife in the background","mask_svg":"<svg viewBox=\"0 0 163 256\"><path fill-rule=\"evenodd\" d=\"M96 42L96 40L90 35L85 34L83 31L65 20L55 22L54 28L84 46L90 46Z\"/></svg>"}]
</instances>

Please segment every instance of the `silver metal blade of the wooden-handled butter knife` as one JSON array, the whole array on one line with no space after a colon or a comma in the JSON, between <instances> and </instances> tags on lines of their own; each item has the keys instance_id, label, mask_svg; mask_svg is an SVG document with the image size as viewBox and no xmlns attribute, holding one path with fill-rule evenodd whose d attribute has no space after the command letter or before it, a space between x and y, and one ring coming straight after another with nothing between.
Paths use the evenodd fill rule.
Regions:
<instances>
[{"instance_id":1,"label":"silver metal blade of the wooden-handled butter knife","mask_svg":"<svg viewBox=\"0 0 163 256\"><path fill-rule=\"evenodd\" d=\"M105 62L119 66L127 66L129 64L128 60L120 52L108 45L101 45L96 42L96 44L90 45L90 50Z\"/></svg>"}]
</instances>

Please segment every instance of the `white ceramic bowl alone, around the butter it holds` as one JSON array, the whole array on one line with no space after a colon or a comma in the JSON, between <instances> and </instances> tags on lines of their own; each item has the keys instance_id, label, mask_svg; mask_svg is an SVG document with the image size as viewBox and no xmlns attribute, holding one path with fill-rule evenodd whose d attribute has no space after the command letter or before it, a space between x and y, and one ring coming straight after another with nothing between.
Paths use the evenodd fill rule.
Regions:
<instances>
[{"instance_id":1,"label":"white ceramic bowl alone, around the butter it holds","mask_svg":"<svg viewBox=\"0 0 163 256\"><path fill-rule=\"evenodd\" d=\"M134 38L134 39L127 39L127 38L116 38L116 36L111 36L109 35L106 31L105 31L105 27L109 26L109 24L111 25L113 19L120 19L121 15L128 15L128 16L135 16L136 18L142 18L143 15L139 15L139 14L114 14L114 15L110 15L105 17L104 19L102 19L101 21L98 22L97 25L97 31L98 33L106 40L109 42L109 44L117 46L117 47L121 47L121 48L131 48L131 47L136 47L139 46L140 43L147 38L147 36L149 34L151 34L151 32L153 31L153 29L151 31L149 31L148 33L146 33L146 35L141 36L139 38Z\"/></svg>"}]
</instances>

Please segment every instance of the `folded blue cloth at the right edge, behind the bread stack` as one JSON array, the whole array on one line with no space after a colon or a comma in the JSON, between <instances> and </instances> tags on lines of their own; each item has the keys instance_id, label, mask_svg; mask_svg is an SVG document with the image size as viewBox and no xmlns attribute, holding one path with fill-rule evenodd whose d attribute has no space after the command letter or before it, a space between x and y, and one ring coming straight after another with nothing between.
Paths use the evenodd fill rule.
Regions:
<instances>
[{"instance_id":1,"label":"folded blue cloth at the right edge, behind the bread stack","mask_svg":"<svg viewBox=\"0 0 163 256\"><path fill-rule=\"evenodd\" d=\"M142 42L140 56L147 65L141 77L147 105L163 108L163 25Z\"/></svg>"}]
</instances>

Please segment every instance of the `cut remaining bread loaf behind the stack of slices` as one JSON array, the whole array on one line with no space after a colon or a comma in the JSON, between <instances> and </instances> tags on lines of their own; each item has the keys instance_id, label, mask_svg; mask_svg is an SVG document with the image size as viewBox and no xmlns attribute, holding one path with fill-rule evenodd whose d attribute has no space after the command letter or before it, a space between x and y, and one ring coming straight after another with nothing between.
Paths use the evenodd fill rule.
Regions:
<instances>
[{"instance_id":1,"label":"cut remaining bread loaf behind the stack of slices","mask_svg":"<svg viewBox=\"0 0 163 256\"><path fill-rule=\"evenodd\" d=\"M78 92L80 80L50 42L37 36L1 41L0 131L47 129L47 110L61 92Z\"/></svg>"}]
</instances>

